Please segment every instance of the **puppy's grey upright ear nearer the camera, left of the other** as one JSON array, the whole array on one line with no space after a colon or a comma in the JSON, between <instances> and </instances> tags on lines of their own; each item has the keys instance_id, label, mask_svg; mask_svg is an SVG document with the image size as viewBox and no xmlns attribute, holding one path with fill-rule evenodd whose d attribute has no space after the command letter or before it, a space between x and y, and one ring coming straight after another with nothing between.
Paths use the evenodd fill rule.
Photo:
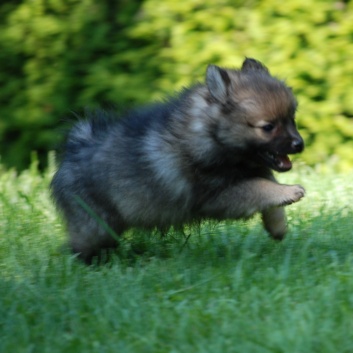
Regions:
<instances>
[{"instance_id":1,"label":"puppy's grey upright ear nearer the camera, left of the other","mask_svg":"<svg viewBox=\"0 0 353 353\"><path fill-rule=\"evenodd\" d=\"M213 98L220 102L227 100L230 78L226 70L216 65L209 65L207 67L206 84Z\"/></svg>"}]
</instances>

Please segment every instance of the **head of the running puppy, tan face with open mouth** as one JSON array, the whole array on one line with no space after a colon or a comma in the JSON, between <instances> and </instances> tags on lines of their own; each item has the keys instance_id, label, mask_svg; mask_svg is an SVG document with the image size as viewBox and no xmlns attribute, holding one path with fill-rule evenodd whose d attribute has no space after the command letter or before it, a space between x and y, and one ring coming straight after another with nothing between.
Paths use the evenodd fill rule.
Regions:
<instances>
[{"instance_id":1,"label":"head of the running puppy, tan face with open mouth","mask_svg":"<svg viewBox=\"0 0 353 353\"><path fill-rule=\"evenodd\" d=\"M216 142L251 163L279 172L290 170L288 154L304 149L295 125L297 102L292 90L254 59L246 59L240 70L210 65L206 83L220 107Z\"/></svg>"}]
</instances>

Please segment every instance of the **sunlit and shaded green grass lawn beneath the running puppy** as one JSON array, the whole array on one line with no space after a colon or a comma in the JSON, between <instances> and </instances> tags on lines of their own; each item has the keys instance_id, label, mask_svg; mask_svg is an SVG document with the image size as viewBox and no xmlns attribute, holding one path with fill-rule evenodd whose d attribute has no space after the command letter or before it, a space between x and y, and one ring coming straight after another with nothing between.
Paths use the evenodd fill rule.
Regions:
<instances>
[{"instance_id":1,"label":"sunlit and shaded green grass lawn beneath the running puppy","mask_svg":"<svg viewBox=\"0 0 353 353\"><path fill-rule=\"evenodd\" d=\"M0 171L0 352L352 352L353 175L297 169L283 242L259 217L205 223L89 267L62 249L51 172Z\"/></svg>"}]
</instances>

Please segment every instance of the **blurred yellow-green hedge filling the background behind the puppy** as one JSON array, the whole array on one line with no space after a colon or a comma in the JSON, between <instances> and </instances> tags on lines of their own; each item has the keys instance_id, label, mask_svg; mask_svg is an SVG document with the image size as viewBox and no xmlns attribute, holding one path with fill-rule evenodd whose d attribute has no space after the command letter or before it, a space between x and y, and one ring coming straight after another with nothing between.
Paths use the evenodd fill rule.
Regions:
<instances>
[{"instance_id":1,"label":"blurred yellow-green hedge filling the background behind the puppy","mask_svg":"<svg viewBox=\"0 0 353 353\"><path fill-rule=\"evenodd\" d=\"M328 0L13 0L0 4L0 155L45 166L84 107L126 107L245 56L299 100L301 159L353 167L353 3Z\"/></svg>"}]
</instances>

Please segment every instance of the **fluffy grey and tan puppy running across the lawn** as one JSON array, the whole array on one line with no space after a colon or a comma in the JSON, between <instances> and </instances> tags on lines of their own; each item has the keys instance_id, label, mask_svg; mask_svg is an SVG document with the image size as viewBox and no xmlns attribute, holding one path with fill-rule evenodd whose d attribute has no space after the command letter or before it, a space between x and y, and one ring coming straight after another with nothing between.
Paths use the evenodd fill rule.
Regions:
<instances>
[{"instance_id":1,"label":"fluffy grey and tan puppy running across the lawn","mask_svg":"<svg viewBox=\"0 0 353 353\"><path fill-rule=\"evenodd\" d=\"M240 70L210 65L206 84L122 118L91 113L69 133L51 184L72 250L90 262L116 245L78 200L117 234L260 212L265 229L282 239L283 206L304 196L272 172L291 169L287 154L304 148L296 106L283 81L246 59Z\"/></svg>"}]
</instances>

